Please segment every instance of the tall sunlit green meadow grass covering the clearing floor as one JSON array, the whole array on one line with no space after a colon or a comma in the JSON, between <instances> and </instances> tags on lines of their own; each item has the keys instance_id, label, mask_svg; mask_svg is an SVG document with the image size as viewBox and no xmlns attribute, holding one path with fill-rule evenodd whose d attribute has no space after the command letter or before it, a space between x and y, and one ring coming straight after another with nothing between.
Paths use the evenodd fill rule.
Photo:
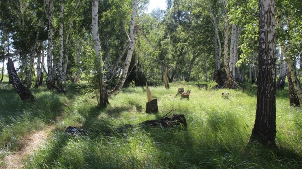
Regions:
<instances>
[{"instance_id":1,"label":"tall sunlit green meadow grass covering the clearing floor","mask_svg":"<svg viewBox=\"0 0 302 169\"><path fill-rule=\"evenodd\" d=\"M81 95L71 89L64 95L45 87L32 89L37 101L27 103L11 86L0 83L0 159L18 151L24 135L55 125L47 143L23 161L24 168L302 168L301 109L289 106L287 88L276 94L278 148L268 149L247 146L255 121L255 85L210 91L198 88L196 82L175 82L170 87L149 87L158 99L159 113L146 114L145 87L123 88L109 98L107 108L101 108L93 93ZM181 87L192 91L189 100L176 96ZM229 92L228 100L222 92ZM136 125L173 109L185 115L187 128ZM136 126L122 133L112 130L125 124ZM92 133L67 136L69 125Z\"/></svg>"}]
</instances>

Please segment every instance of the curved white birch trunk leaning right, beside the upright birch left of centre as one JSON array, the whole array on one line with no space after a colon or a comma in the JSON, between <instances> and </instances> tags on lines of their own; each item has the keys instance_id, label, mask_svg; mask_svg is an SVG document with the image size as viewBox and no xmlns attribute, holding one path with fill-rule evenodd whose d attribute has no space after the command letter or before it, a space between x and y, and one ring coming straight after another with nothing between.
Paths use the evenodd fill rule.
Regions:
<instances>
[{"instance_id":1,"label":"curved white birch trunk leaning right, beside the upright birch left of centre","mask_svg":"<svg viewBox=\"0 0 302 169\"><path fill-rule=\"evenodd\" d=\"M118 83L116 84L116 86L109 92L109 94L118 94L121 90L121 88L123 87L126 78L127 78L127 72L129 69L129 65L132 59L132 53L133 53L133 49L134 49L134 45L135 45L135 35L134 35L134 24L135 24L135 16L137 13L137 0L133 0L133 10L132 10L132 14L131 14L131 24L130 24L130 47L128 50L128 54L124 63L124 68L123 68L123 72L122 75L120 77L120 80L118 81Z\"/></svg>"}]
</instances>

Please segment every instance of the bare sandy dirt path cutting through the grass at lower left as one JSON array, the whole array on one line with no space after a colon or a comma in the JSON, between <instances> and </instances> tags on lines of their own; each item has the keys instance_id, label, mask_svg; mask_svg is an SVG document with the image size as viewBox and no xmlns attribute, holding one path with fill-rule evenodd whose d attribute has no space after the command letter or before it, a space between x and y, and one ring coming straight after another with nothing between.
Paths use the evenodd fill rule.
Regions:
<instances>
[{"instance_id":1,"label":"bare sandy dirt path cutting through the grass at lower left","mask_svg":"<svg viewBox=\"0 0 302 169\"><path fill-rule=\"evenodd\" d=\"M47 126L41 131L34 132L26 137L27 144L18 152L8 155L4 158L6 164L5 167L0 167L0 169L13 169L13 168L23 168L21 161L26 159L27 155L31 155L39 146L46 141L50 131L54 129L53 126Z\"/></svg>"}]
</instances>

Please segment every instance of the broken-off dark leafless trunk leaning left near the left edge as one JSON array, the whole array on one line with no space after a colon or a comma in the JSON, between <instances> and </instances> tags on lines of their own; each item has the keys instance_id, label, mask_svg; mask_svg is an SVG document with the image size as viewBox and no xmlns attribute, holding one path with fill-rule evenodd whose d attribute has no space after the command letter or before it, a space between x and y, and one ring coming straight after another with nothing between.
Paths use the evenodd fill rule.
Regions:
<instances>
[{"instance_id":1,"label":"broken-off dark leafless trunk leaning left near the left edge","mask_svg":"<svg viewBox=\"0 0 302 169\"><path fill-rule=\"evenodd\" d=\"M17 75L16 69L14 67L14 63L11 60L11 58L8 58L8 63L7 64L7 71L8 71L8 76L9 79L11 80L15 90L21 97L21 100L31 100L34 101L35 97L33 94L31 94L30 91L25 88L25 86L22 84L19 76Z\"/></svg>"}]
</instances>

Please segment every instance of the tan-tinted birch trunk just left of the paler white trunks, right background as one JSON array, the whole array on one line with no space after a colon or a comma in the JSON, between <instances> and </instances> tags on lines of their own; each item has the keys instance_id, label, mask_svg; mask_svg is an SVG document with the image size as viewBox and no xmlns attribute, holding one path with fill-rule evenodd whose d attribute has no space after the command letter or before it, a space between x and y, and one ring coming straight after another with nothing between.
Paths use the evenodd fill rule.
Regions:
<instances>
[{"instance_id":1,"label":"tan-tinted birch trunk just left of the paler white trunks, right background","mask_svg":"<svg viewBox=\"0 0 302 169\"><path fill-rule=\"evenodd\" d=\"M232 77L232 72L230 71L230 66L229 66L229 17L228 17L228 11L226 8L226 2L227 0L223 0L223 6L224 6L224 11L225 11L225 21L224 21L224 68L226 70L226 76L227 76L227 81L226 81L226 87L229 89L234 88L235 81Z\"/></svg>"}]
</instances>

